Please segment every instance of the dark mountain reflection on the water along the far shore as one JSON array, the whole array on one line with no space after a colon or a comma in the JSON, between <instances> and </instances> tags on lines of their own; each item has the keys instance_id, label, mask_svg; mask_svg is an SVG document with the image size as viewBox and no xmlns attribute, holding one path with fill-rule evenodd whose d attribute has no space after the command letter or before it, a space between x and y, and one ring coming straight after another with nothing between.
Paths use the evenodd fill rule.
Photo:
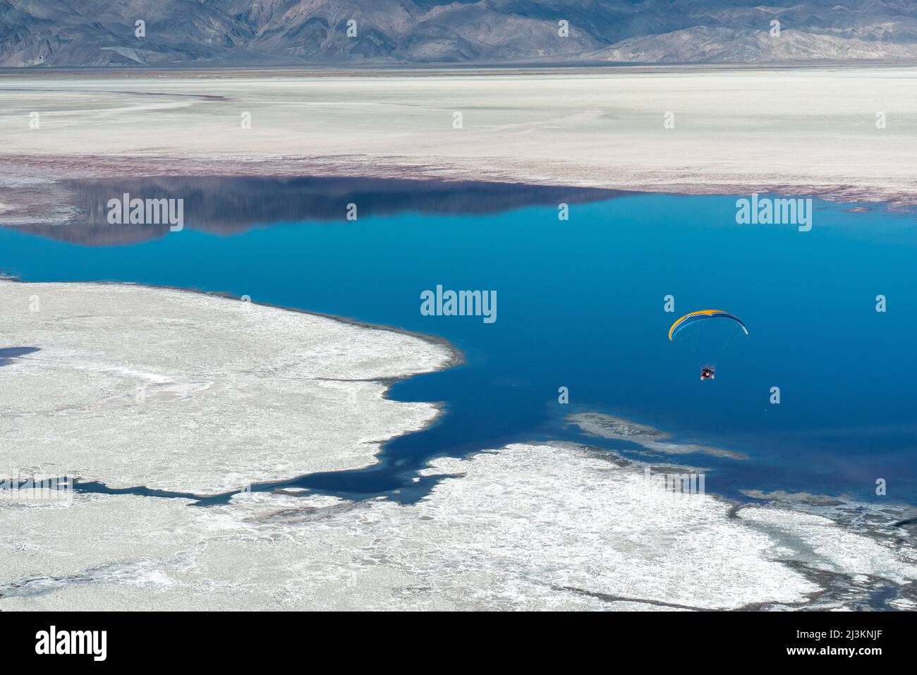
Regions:
<instances>
[{"instance_id":1,"label":"dark mountain reflection on the water along the far shore","mask_svg":"<svg viewBox=\"0 0 917 675\"><path fill-rule=\"evenodd\" d=\"M183 199L184 227L233 235L261 225L358 216L479 215L529 205L582 204L610 199L613 190L516 183L414 181L377 178L166 177L62 181L56 187L74 215L66 224L10 226L83 246L119 246L164 237L168 224L107 220L110 199ZM2 223L0 223L2 224Z\"/></svg>"}]
</instances>

